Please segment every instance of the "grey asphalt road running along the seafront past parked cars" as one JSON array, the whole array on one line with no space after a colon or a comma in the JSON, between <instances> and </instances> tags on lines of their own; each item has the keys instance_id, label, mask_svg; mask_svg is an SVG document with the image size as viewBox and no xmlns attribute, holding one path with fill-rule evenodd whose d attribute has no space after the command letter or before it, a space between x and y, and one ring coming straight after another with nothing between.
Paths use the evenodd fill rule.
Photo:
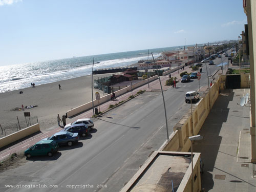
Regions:
<instances>
[{"instance_id":1,"label":"grey asphalt road running along the seafront past parked cars","mask_svg":"<svg viewBox=\"0 0 256 192\"><path fill-rule=\"evenodd\" d=\"M220 58L214 61L221 62ZM200 86L205 85L204 64ZM190 109L185 92L198 88L198 80L193 79L164 92L169 134ZM167 138L161 92L146 92L94 121L94 131L77 145L60 147L54 157L34 157L1 173L0 191L119 191Z\"/></svg>"}]
</instances>

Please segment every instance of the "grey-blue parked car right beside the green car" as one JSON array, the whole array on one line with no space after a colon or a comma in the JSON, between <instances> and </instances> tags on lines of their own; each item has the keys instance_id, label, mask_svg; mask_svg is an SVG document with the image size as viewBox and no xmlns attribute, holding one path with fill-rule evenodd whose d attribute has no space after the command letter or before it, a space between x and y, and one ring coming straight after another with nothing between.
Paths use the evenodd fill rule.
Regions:
<instances>
[{"instance_id":1,"label":"grey-blue parked car right beside the green car","mask_svg":"<svg viewBox=\"0 0 256 192\"><path fill-rule=\"evenodd\" d=\"M69 145L72 146L73 143L78 142L79 135L78 133L71 133L71 132L58 132L55 133L53 136L45 138L43 140L55 140L58 145Z\"/></svg>"}]
</instances>

